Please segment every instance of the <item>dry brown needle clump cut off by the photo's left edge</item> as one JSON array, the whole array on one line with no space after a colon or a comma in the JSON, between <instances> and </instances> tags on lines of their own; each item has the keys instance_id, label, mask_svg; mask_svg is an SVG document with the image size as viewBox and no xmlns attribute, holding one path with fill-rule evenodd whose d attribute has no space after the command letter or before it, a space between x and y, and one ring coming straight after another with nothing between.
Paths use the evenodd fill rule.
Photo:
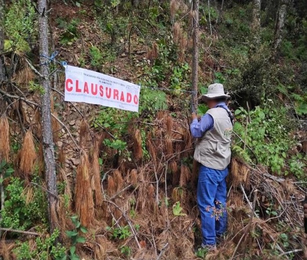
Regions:
<instances>
[{"instance_id":1,"label":"dry brown needle clump cut off by the photo's left edge","mask_svg":"<svg viewBox=\"0 0 307 260\"><path fill-rule=\"evenodd\" d=\"M9 124L5 115L0 117L0 161L9 161Z\"/></svg>"}]
</instances>

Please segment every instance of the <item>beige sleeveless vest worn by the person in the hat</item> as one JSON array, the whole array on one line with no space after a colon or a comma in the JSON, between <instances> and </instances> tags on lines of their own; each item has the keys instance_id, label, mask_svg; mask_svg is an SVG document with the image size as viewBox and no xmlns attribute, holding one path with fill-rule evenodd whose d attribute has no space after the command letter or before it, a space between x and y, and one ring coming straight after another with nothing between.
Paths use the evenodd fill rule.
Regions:
<instances>
[{"instance_id":1,"label":"beige sleeveless vest worn by the person in the hat","mask_svg":"<svg viewBox=\"0 0 307 260\"><path fill-rule=\"evenodd\" d=\"M222 170L230 162L232 124L222 107L211 108L207 113L213 117L213 128L198 139L194 159L204 166Z\"/></svg>"}]
</instances>

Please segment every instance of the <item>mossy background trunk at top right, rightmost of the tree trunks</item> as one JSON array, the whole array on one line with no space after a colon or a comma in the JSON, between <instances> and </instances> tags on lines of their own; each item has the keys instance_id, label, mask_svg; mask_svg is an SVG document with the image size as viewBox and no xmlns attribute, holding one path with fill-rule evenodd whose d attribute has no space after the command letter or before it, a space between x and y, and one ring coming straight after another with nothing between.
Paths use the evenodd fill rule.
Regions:
<instances>
[{"instance_id":1,"label":"mossy background trunk at top right, rightmost of the tree trunks","mask_svg":"<svg viewBox=\"0 0 307 260\"><path fill-rule=\"evenodd\" d=\"M288 5L289 0L280 0L278 12L277 12L277 19L276 19L276 26L275 26L275 38L274 38L274 51L277 51L281 40L282 40L282 31L284 27L284 20L286 16L286 7Z\"/></svg>"}]
</instances>

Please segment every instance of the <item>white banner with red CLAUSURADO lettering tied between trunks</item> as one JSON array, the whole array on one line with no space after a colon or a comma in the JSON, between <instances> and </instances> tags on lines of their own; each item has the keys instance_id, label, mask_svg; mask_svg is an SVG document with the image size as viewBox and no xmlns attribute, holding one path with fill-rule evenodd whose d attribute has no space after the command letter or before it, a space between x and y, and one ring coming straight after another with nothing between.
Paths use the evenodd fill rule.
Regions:
<instances>
[{"instance_id":1,"label":"white banner with red CLAUSURADO lettering tied between trunks","mask_svg":"<svg viewBox=\"0 0 307 260\"><path fill-rule=\"evenodd\" d=\"M140 86L102 73L67 65L65 101L138 112Z\"/></svg>"}]
</instances>

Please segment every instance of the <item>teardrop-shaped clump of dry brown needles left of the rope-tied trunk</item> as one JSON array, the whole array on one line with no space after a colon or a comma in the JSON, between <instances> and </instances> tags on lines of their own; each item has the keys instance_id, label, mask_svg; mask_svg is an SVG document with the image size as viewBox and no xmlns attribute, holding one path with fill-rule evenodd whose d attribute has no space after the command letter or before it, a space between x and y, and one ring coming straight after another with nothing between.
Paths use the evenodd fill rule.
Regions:
<instances>
[{"instance_id":1,"label":"teardrop-shaped clump of dry brown needles left of the rope-tied trunk","mask_svg":"<svg viewBox=\"0 0 307 260\"><path fill-rule=\"evenodd\" d=\"M18 152L19 169L26 177L29 177L33 172L36 157L33 134L31 130L28 130L23 137L21 149Z\"/></svg>"}]
</instances>

